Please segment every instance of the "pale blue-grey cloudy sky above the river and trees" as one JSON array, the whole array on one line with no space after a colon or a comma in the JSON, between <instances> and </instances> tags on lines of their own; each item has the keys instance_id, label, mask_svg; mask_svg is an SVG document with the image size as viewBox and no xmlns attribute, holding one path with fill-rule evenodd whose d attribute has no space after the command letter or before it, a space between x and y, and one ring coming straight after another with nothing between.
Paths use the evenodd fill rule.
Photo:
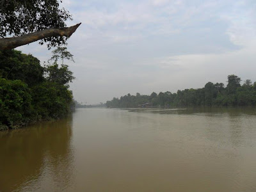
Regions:
<instances>
[{"instance_id":1,"label":"pale blue-grey cloudy sky above the river and trees","mask_svg":"<svg viewBox=\"0 0 256 192\"><path fill-rule=\"evenodd\" d=\"M177 92L227 84L235 74L256 81L256 1L63 0L72 26L74 99L106 102L130 93ZM38 42L18 48L41 63L51 51Z\"/></svg>"}]
</instances>

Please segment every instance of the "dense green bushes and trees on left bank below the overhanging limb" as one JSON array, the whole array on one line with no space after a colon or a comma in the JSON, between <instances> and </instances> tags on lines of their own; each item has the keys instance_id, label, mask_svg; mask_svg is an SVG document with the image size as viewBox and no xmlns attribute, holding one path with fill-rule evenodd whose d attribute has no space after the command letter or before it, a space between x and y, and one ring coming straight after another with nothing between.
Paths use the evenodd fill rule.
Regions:
<instances>
[{"instance_id":1,"label":"dense green bushes and trees on left bank below the overhanging limb","mask_svg":"<svg viewBox=\"0 0 256 192\"><path fill-rule=\"evenodd\" d=\"M74 77L63 65L63 59L72 55L62 49L56 49L44 67L31 54L0 51L0 130L67 115L73 98L68 83Z\"/></svg>"}]
</instances>

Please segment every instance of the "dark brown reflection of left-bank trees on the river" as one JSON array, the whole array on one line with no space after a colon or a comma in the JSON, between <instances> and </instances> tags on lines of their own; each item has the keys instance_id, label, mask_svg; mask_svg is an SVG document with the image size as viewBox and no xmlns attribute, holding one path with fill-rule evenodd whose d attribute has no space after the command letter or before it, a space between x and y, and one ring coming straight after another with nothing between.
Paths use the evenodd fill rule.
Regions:
<instances>
[{"instance_id":1,"label":"dark brown reflection of left-bank trees on the river","mask_svg":"<svg viewBox=\"0 0 256 192\"><path fill-rule=\"evenodd\" d=\"M74 159L71 123L67 118L0 132L0 191L66 188Z\"/></svg>"}]
</instances>

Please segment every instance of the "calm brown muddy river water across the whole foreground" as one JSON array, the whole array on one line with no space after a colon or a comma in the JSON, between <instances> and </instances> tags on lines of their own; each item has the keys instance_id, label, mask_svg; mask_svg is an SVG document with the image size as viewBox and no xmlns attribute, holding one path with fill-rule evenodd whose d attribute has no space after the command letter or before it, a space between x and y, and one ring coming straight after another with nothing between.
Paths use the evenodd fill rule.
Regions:
<instances>
[{"instance_id":1,"label":"calm brown muddy river water across the whole foreground","mask_svg":"<svg viewBox=\"0 0 256 192\"><path fill-rule=\"evenodd\" d=\"M256 112L77 109L0 132L0 191L256 191Z\"/></svg>"}]
</instances>

